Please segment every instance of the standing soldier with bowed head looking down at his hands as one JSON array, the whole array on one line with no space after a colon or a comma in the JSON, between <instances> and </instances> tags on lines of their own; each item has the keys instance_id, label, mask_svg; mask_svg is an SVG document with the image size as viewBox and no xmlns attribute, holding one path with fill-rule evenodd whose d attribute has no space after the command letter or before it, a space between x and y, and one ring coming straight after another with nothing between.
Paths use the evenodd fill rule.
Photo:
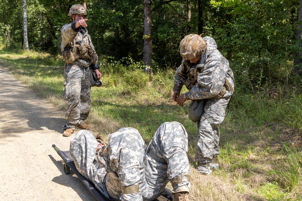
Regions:
<instances>
[{"instance_id":1,"label":"standing soldier with bowed head looking down at his hands","mask_svg":"<svg viewBox=\"0 0 302 201\"><path fill-rule=\"evenodd\" d=\"M179 106L192 100L189 118L198 126L195 162L200 173L210 174L219 168L218 127L234 92L234 75L211 37L189 34L179 48L183 60L174 76L173 99ZM190 91L180 95L183 85Z\"/></svg>"}]
</instances>

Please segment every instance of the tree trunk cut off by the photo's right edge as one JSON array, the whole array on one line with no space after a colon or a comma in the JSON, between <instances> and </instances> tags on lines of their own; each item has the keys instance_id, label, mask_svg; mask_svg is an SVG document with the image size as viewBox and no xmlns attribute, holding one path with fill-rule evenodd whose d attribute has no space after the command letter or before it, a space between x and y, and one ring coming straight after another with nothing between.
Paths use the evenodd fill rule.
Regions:
<instances>
[{"instance_id":1,"label":"tree trunk cut off by the photo's right edge","mask_svg":"<svg viewBox=\"0 0 302 201\"><path fill-rule=\"evenodd\" d=\"M299 13L298 13L298 29L296 34L296 40L299 43L299 48L296 50L294 57L294 68L293 72L297 75L302 75L301 65L302 65L302 0L299 1Z\"/></svg>"}]
</instances>

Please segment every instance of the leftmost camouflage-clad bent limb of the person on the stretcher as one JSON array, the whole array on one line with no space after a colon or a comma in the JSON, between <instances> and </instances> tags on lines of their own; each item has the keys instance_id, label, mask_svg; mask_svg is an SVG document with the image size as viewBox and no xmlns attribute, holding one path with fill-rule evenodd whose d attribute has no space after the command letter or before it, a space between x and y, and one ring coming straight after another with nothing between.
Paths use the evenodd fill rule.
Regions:
<instances>
[{"instance_id":1,"label":"leftmost camouflage-clad bent limb of the person on the stretcher","mask_svg":"<svg viewBox=\"0 0 302 201\"><path fill-rule=\"evenodd\" d=\"M80 130L72 137L69 151L77 170L104 194L104 178L107 172L105 166L97 159L97 147L98 141L93 133L88 130Z\"/></svg>"}]
</instances>

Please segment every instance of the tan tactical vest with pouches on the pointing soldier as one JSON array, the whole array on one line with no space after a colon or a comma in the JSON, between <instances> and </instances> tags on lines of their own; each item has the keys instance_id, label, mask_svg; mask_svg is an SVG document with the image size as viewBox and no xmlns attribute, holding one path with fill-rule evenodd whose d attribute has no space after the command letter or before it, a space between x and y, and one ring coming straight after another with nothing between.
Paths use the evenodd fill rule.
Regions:
<instances>
[{"instance_id":1,"label":"tan tactical vest with pouches on the pointing soldier","mask_svg":"<svg viewBox=\"0 0 302 201\"><path fill-rule=\"evenodd\" d=\"M82 43L85 37L88 38L87 33L84 33L82 40L78 40L76 36L76 38L65 47L64 51L62 51L62 55L67 64L70 64L79 58L89 60L89 64L95 64L97 62L98 55L91 45Z\"/></svg>"}]
</instances>

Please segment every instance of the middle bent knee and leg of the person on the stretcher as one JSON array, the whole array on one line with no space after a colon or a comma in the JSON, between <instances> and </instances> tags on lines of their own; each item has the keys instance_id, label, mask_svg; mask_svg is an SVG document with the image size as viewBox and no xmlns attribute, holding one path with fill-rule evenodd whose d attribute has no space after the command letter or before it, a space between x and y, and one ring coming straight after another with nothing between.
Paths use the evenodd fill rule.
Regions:
<instances>
[{"instance_id":1,"label":"middle bent knee and leg of the person on the stretcher","mask_svg":"<svg viewBox=\"0 0 302 201\"><path fill-rule=\"evenodd\" d=\"M144 140L134 128L109 135L106 187L114 200L142 201L146 196Z\"/></svg>"}]
</instances>

